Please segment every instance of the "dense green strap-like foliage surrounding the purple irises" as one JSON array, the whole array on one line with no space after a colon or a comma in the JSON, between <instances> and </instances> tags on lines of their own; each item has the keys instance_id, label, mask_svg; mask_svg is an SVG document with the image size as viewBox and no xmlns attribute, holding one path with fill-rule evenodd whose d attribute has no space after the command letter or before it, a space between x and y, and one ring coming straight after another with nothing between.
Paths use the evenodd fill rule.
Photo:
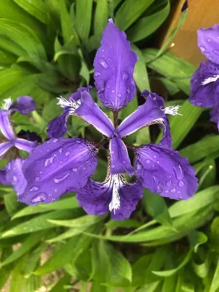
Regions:
<instances>
[{"instance_id":1,"label":"dense green strap-like foliage surrounding the purple irises","mask_svg":"<svg viewBox=\"0 0 219 292\"><path fill-rule=\"evenodd\" d=\"M148 38L158 37L156 30L168 17L171 2L0 1L0 103L19 95L31 95L37 103L28 116L13 115L16 132L35 131L45 141L49 121L62 113L55 97L93 85L94 53L111 17L138 55L137 93L119 112L119 120L145 101L140 92L150 91L154 82L157 87L162 83L166 106L179 104L183 114L170 117L173 146L188 157L199 177L199 189L187 201L166 200L144 189L143 200L124 221L113 221L109 214L85 214L74 193L50 204L25 206L11 187L0 186L0 290L8 282L10 292L43 291L45 284L49 292L219 291L219 186L215 185L219 138L206 112L187 100L190 77L197 68L166 53L187 11L160 50L151 49ZM96 91L91 94L100 104ZM102 139L76 117L68 126L70 137ZM158 143L161 137L152 127L143 128L125 142ZM92 178L104 181L106 150L100 150L98 162Z\"/></svg>"}]
</instances>

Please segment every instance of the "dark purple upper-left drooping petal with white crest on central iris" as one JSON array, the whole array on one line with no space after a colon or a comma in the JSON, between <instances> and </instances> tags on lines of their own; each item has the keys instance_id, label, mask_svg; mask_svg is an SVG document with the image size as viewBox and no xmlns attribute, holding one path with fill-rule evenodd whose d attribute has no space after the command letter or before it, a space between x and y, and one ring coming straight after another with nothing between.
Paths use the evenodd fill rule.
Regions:
<instances>
[{"instance_id":1,"label":"dark purple upper-left drooping petal with white crest on central iris","mask_svg":"<svg viewBox=\"0 0 219 292\"><path fill-rule=\"evenodd\" d=\"M75 93L71 94L67 99L66 104L69 104L69 106L64 104L61 105L61 107L63 108L63 114L60 117L50 121L48 124L47 134L49 138L59 138L64 136L64 134L68 131L68 118L75 111L75 107L72 107L71 104L73 103L73 101L79 101L81 98L81 93L84 91L89 92L90 89L92 89L91 86L88 86L88 88L78 88L78 90ZM60 103L58 104L60 105Z\"/></svg>"}]
</instances>

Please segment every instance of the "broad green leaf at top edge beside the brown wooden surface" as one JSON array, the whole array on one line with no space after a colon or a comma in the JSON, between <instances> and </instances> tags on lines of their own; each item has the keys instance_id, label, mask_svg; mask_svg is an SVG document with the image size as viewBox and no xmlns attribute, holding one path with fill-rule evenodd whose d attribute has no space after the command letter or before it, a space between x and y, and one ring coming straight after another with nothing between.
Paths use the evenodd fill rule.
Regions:
<instances>
[{"instance_id":1,"label":"broad green leaf at top edge beside the brown wooden surface","mask_svg":"<svg viewBox=\"0 0 219 292\"><path fill-rule=\"evenodd\" d=\"M156 1L153 3L156 4ZM153 7L153 4L150 8ZM130 29L127 36L131 42L139 41L153 34L167 18L170 11L169 0L159 0L159 7L146 17L140 18Z\"/></svg>"}]
</instances>

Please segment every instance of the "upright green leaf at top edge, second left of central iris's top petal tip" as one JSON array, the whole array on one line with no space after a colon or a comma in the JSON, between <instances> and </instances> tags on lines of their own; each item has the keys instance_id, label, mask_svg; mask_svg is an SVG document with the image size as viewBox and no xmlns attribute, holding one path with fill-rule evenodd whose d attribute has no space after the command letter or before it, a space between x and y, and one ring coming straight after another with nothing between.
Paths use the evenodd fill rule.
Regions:
<instances>
[{"instance_id":1,"label":"upright green leaf at top edge, second left of central iris's top petal tip","mask_svg":"<svg viewBox=\"0 0 219 292\"><path fill-rule=\"evenodd\" d=\"M76 0L75 26L83 41L88 39L91 29L92 2L92 0Z\"/></svg>"}]
</instances>

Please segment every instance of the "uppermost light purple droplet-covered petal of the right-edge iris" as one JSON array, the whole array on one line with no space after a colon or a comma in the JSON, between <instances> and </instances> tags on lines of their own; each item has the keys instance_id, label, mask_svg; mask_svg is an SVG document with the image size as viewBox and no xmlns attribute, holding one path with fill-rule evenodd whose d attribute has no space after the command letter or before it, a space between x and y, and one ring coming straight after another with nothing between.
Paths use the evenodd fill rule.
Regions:
<instances>
[{"instance_id":1,"label":"uppermost light purple droplet-covered petal of the right-edge iris","mask_svg":"<svg viewBox=\"0 0 219 292\"><path fill-rule=\"evenodd\" d=\"M197 34L201 53L210 61L219 64L219 24L209 28L200 28Z\"/></svg>"}]
</instances>

